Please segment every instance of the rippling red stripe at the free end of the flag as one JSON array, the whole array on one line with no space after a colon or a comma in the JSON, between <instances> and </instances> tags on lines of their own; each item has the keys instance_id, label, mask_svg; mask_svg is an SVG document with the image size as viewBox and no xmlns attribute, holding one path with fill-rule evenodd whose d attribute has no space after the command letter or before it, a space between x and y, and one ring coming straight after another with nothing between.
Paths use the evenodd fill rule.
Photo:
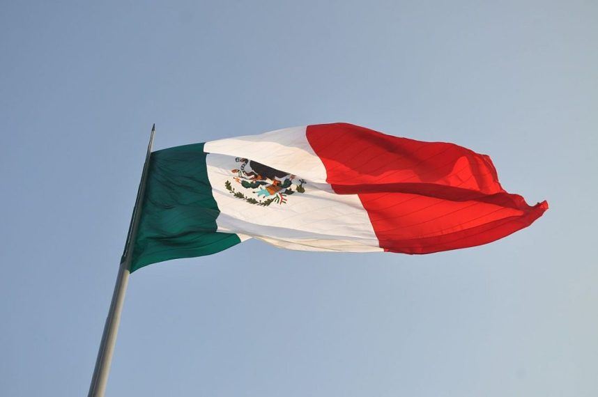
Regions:
<instances>
[{"instance_id":1,"label":"rippling red stripe at the free end of the flag","mask_svg":"<svg viewBox=\"0 0 598 397\"><path fill-rule=\"evenodd\" d=\"M339 194L358 194L386 251L428 254L486 244L532 224L533 207L500 186L490 157L356 125L310 125L307 140Z\"/></svg>"}]
</instances>

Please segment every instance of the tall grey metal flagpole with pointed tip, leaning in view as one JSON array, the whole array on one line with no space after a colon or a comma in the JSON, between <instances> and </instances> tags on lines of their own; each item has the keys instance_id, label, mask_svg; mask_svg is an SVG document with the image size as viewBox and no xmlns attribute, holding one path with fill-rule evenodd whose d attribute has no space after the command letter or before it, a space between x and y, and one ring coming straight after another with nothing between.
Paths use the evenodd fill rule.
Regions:
<instances>
[{"instance_id":1,"label":"tall grey metal flagpole with pointed tip, leaning in view","mask_svg":"<svg viewBox=\"0 0 598 397\"><path fill-rule=\"evenodd\" d=\"M141 182L139 182L139 189L137 189L137 199L135 200L135 208L133 209L133 215L129 225L125 252L121 258L121 265L118 267L114 293L112 293L112 302L110 302L110 309L104 325L100 350L98 350L98 358L95 359L95 369L93 370L93 377L91 378L91 385L89 386L89 394L87 394L88 397L103 397L106 391L112 354L114 353L114 345L116 344L116 334L118 334L118 325L121 322L121 312L123 311L123 303L125 301L125 291L127 290L127 285L129 283L132 254L132 247L130 246L135 242L137 227L139 226L140 207L146 189L146 179L154 134L155 124L151 129L146 161L144 163L144 171L141 173Z\"/></svg>"}]
</instances>

